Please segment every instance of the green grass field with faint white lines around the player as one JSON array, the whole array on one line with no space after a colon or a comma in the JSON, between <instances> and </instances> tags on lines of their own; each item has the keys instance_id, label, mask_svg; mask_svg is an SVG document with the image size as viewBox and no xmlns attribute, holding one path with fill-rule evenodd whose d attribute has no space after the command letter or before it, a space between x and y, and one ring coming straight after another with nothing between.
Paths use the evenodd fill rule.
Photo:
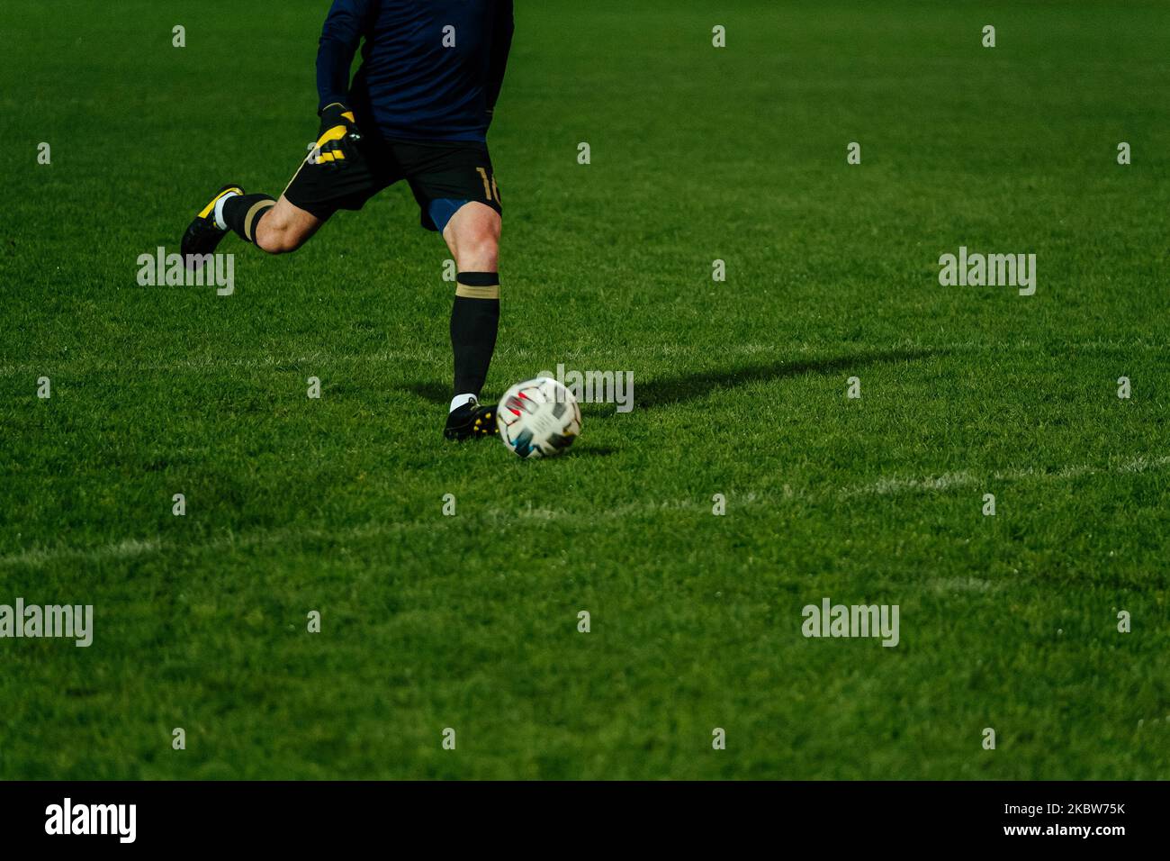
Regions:
<instances>
[{"instance_id":1,"label":"green grass field with faint white lines around the player","mask_svg":"<svg viewBox=\"0 0 1170 861\"><path fill-rule=\"evenodd\" d=\"M634 374L537 463L440 438L405 186L136 281L284 186L325 0L6 6L0 603L95 630L0 640L0 777L1170 777L1166 5L517 5L486 394Z\"/></svg>"}]
</instances>

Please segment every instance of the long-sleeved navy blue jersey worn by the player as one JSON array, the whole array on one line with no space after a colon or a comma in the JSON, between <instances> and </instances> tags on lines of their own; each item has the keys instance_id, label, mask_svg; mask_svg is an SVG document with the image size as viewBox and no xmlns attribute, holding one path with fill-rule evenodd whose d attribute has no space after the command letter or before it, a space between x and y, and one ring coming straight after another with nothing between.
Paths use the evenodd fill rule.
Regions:
<instances>
[{"instance_id":1,"label":"long-sleeved navy blue jersey worn by the player","mask_svg":"<svg viewBox=\"0 0 1170 861\"><path fill-rule=\"evenodd\" d=\"M333 0L317 52L318 110L342 102L386 138L483 141L511 36L512 0Z\"/></svg>"}]
</instances>

